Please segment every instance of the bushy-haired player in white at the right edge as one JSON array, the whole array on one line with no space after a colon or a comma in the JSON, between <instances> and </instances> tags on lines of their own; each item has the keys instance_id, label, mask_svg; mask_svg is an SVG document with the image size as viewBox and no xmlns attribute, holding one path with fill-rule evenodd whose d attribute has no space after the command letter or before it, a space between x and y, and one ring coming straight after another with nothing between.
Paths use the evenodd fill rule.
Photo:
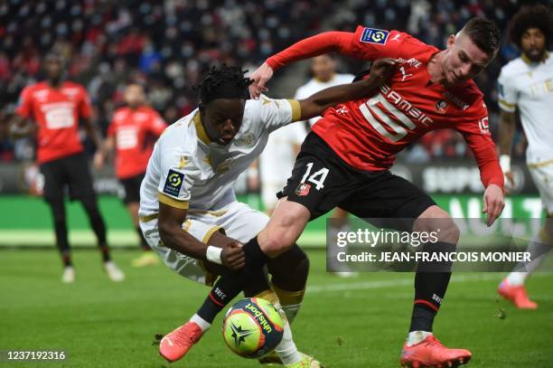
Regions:
<instances>
[{"instance_id":1,"label":"bushy-haired player in white at the right edge","mask_svg":"<svg viewBox=\"0 0 553 368\"><path fill-rule=\"evenodd\" d=\"M510 33L522 54L505 65L499 77L500 164L505 183L513 184L511 146L518 110L528 139L526 162L547 220L530 241L527 251L533 260L520 265L526 271L512 271L501 281L498 291L516 307L535 309L538 305L528 297L524 280L538 268L553 244L553 56L548 52L548 45L553 42L553 17L545 5L523 7L511 20Z\"/></svg>"}]
</instances>

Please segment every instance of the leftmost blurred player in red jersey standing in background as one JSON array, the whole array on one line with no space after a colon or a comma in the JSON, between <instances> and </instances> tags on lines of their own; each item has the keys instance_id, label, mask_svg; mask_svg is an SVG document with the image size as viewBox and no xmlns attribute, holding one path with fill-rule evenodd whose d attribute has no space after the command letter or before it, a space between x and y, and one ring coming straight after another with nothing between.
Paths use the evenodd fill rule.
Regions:
<instances>
[{"instance_id":1,"label":"leftmost blurred player in red jersey standing in background","mask_svg":"<svg viewBox=\"0 0 553 368\"><path fill-rule=\"evenodd\" d=\"M21 93L13 134L36 140L37 160L44 176L43 197L52 210L56 245L64 266L61 280L68 283L75 280L64 203L69 187L70 199L80 200L89 217L108 277L121 281L125 276L109 256L106 225L98 209L89 163L79 137L81 119L89 138L97 146L100 143L98 131L90 120L89 96L79 84L64 80L64 60L59 52L46 56L44 71L46 80L25 87Z\"/></svg>"}]
</instances>

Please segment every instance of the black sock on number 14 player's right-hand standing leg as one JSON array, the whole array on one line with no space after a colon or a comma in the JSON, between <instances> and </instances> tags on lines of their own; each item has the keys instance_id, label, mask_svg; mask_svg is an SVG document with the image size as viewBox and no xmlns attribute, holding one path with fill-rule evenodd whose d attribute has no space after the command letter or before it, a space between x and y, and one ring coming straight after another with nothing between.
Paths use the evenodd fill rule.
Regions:
<instances>
[{"instance_id":1,"label":"black sock on number 14 player's right-hand standing leg","mask_svg":"<svg viewBox=\"0 0 553 368\"><path fill-rule=\"evenodd\" d=\"M438 241L426 243L423 251L430 254L445 255L455 252L455 244ZM442 305L445 290L451 278L452 262L420 261L415 275L415 302L411 316L411 331L432 332L434 318Z\"/></svg>"}]
</instances>

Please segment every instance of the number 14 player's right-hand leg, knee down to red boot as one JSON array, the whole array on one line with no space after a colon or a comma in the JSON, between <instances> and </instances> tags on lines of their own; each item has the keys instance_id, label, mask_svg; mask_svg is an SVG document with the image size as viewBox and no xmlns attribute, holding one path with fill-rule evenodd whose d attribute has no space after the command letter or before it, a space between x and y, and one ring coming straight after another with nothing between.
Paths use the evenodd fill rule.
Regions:
<instances>
[{"instance_id":1,"label":"number 14 player's right-hand leg, knee down to red boot","mask_svg":"<svg viewBox=\"0 0 553 368\"><path fill-rule=\"evenodd\" d=\"M459 230L449 214L438 206L430 206L415 222L413 231L436 231L438 241L426 243L429 251L455 251ZM403 366L448 367L467 363L472 354L465 349L445 347L433 334L432 326L451 277L451 264L419 262L415 277L415 301L408 339L401 351Z\"/></svg>"}]
</instances>

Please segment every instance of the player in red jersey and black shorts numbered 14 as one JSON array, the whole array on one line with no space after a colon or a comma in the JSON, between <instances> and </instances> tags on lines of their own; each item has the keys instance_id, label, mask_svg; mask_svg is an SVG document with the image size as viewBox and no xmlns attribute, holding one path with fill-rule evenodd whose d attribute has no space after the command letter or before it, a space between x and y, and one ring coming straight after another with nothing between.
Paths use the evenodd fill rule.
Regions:
<instances>
[{"instance_id":1,"label":"player in red jersey and black shorts numbered 14","mask_svg":"<svg viewBox=\"0 0 553 368\"><path fill-rule=\"evenodd\" d=\"M443 51L408 33L359 27L355 33L315 35L270 57L251 76L253 97L266 90L274 69L325 52L366 60L391 57L398 68L376 95L324 111L305 138L267 227L242 247L244 269L233 278L220 278L201 310L217 313L239 293L248 275L294 244L307 222L334 207L363 219L390 219L404 231L440 228L437 242L427 242L423 250L455 251L459 230L449 214L417 186L389 172L399 151L433 129L454 128L471 147L485 187L483 212L492 225L504 206L503 174L483 94L472 79L492 61L499 46L495 24L473 18L448 38ZM451 366L471 359L468 350L447 348L432 332L450 277L451 262L418 263L401 364Z\"/></svg>"}]
</instances>

